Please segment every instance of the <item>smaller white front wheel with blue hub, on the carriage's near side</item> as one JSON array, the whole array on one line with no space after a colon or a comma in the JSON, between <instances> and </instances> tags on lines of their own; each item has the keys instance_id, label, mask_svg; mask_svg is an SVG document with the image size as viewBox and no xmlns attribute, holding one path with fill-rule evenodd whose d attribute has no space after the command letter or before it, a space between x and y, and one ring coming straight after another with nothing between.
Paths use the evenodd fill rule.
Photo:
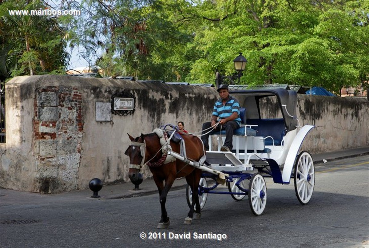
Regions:
<instances>
[{"instance_id":1,"label":"smaller white front wheel with blue hub, on the carriage's near side","mask_svg":"<svg viewBox=\"0 0 369 248\"><path fill-rule=\"evenodd\" d=\"M250 179L249 205L252 213L259 216L266 205L266 183L261 173L255 173Z\"/></svg>"}]
</instances>

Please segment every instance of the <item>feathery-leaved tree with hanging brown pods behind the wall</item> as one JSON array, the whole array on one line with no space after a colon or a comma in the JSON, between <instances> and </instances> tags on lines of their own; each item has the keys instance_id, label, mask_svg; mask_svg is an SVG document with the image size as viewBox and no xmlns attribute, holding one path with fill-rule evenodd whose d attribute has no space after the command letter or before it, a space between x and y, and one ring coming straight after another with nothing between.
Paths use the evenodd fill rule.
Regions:
<instances>
[{"instance_id":1,"label":"feathery-leaved tree with hanging brown pods behind the wall","mask_svg":"<svg viewBox=\"0 0 369 248\"><path fill-rule=\"evenodd\" d=\"M77 3L68 4L72 8ZM184 0L83 1L78 23L65 21L69 41L86 49L85 58L98 55L97 65L112 76L181 80L196 53L189 45L193 37L170 19L173 9L187 4Z\"/></svg>"}]
</instances>

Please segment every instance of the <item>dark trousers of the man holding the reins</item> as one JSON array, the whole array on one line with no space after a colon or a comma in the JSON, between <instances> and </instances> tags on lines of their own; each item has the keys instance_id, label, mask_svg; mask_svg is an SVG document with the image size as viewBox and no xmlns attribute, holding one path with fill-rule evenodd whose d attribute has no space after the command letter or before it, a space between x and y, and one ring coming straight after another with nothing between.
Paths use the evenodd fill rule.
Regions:
<instances>
[{"instance_id":1,"label":"dark trousers of the man holding the reins","mask_svg":"<svg viewBox=\"0 0 369 248\"><path fill-rule=\"evenodd\" d=\"M207 128L210 128L211 127L211 122L206 122L203 124L203 129L202 130L205 130ZM232 150L233 148L233 144L232 144L232 140L233 140L233 131L235 129L239 128L239 125L236 121L227 121L223 126L222 126L222 130L225 130L225 141L224 141L224 145L228 148L230 148L230 150ZM209 143L208 143L208 140L209 140L209 135L211 133L208 133L208 134L205 134L207 132L209 132L209 130L205 130L205 131L202 131L201 134L201 140L203 141L204 143L204 148L206 151L209 151ZM220 125L218 125L213 131L220 131ZM205 135L203 135L205 134Z\"/></svg>"}]
</instances>

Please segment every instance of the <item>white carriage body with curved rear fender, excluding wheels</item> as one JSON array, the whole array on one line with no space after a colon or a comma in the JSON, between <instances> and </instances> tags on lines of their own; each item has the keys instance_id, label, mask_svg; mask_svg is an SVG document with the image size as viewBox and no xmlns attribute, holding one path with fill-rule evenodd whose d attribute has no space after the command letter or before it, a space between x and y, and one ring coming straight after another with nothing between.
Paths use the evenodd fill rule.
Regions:
<instances>
[{"instance_id":1,"label":"white carriage body with curved rear fender, excluding wheels","mask_svg":"<svg viewBox=\"0 0 369 248\"><path fill-rule=\"evenodd\" d=\"M275 95L273 95L273 93ZM263 91L243 91L243 92L235 92L235 94L245 94L250 95L251 97L257 96L262 98L265 96L279 96L279 94L284 94L284 101L289 101L289 98L295 98L292 100L292 104L289 104L289 108L287 105L278 98L276 104L279 104L280 111L282 112L282 118L275 119L267 119L269 122L268 127L273 124L275 120L276 126L279 126L280 129L281 121L283 121L284 130L282 130L282 135L280 140L275 140L272 136L268 135L268 131L263 130L262 133L266 134L263 136L258 136L258 132L253 133L253 128L258 128L258 125L248 124L246 114L245 119L243 120L246 124L241 124L241 128L245 128L243 135L235 134L233 135L233 150L231 154L229 152L221 152L221 145L224 144L225 141L225 133L221 134L221 132L216 132L215 134L210 135L209 137L209 147L210 150L206 153L207 162L209 162L216 170L220 171L252 171L254 169L251 161L256 161L260 159L273 159L280 168L283 168L282 172L282 182L283 184L290 183L290 178L292 174L293 165L296 161L296 156L299 152L301 144L306 137L307 133L314 127L313 125L305 125L304 127L300 127L298 124L298 120L296 117L292 116L292 114L296 114L296 93L291 91L278 89L278 90L263 90ZM254 105L254 108L257 111L251 114L255 117L256 112L260 118L260 109L253 101L246 99L245 103ZM293 105L293 106L291 106ZM246 110L248 106L245 106ZM244 110L245 111L245 110ZM253 112L251 110L251 112ZM289 118L289 124L287 124L287 118ZM242 118L241 118L242 119ZM257 119L254 119L254 122L257 122ZM263 119L260 118L260 122L263 123ZM265 122L265 121L264 121ZM278 123L278 124L277 124ZM251 129L251 135L248 134ZM259 128L265 128L260 126ZM279 130L280 131L280 130ZM270 130L273 132L273 130ZM213 145L213 141L217 140L217 145ZM212 151L212 148L216 147L215 151ZM221 156L221 154L227 154L227 156ZM233 155L233 156L232 156ZM232 157L232 159L230 159ZM225 160L221 160L220 158L224 158ZM228 158L228 160L227 160ZM223 167L222 167L223 166ZM226 166L226 167L224 167Z\"/></svg>"}]
</instances>

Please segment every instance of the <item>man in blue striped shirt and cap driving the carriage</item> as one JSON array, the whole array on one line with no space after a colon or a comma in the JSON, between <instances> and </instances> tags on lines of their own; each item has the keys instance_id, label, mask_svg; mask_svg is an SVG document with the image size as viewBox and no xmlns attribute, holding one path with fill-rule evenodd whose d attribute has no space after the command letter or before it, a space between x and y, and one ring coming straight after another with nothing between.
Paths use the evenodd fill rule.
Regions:
<instances>
[{"instance_id":1,"label":"man in blue striped shirt and cap driving the carriage","mask_svg":"<svg viewBox=\"0 0 369 248\"><path fill-rule=\"evenodd\" d=\"M204 143L206 151L209 150L208 128L214 126L217 123L218 117L220 118L216 131L225 130L225 142L220 148L223 152L229 152L232 150L232 137L233 131L239 128L241 124L241 118L239 117L239 102L234 97L230 96L227 85L220 85L217 89L220 99L214 104L213 115L211 116L211 122L203 124L201 140ZM208 134L206 134L208 133Z\"/></svg>"}]
</instances>

